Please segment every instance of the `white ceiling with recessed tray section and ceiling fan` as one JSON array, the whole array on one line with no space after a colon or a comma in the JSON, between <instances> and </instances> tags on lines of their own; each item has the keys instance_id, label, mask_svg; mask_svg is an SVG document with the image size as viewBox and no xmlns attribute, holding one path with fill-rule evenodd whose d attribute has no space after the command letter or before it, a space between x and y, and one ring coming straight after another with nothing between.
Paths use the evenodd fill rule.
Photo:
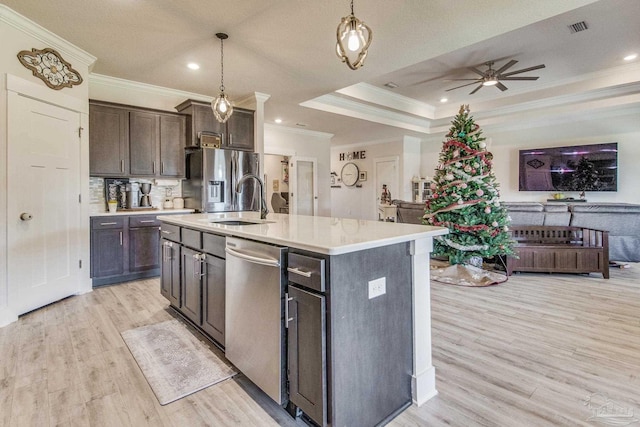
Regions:
<instances>
[{"instance_id":1,"label":"white ceiling with recessed tray section and ceiling fan","mask_svg":"<svg viewBox=\"0 0 640 427\"><path fill-rule=\"evenodd\" d=\"M220 85L215 33L226 32L229 97L269 94L267 122L302 123L334 144L442 133L461 103L483 125L640 111L640 60L621 59L640 53L638 0L355 0L373 30L357 71L335 55L347 0L0 1L95 55L94 73L209 96ZM583 20L589 29L571 34ZM464 83L447 79L475 77L467 66L510 59L510 71L546 68L505 92L445 92ZM192 61L200 70L186 68Z\"/></svg>"}]
</instances>

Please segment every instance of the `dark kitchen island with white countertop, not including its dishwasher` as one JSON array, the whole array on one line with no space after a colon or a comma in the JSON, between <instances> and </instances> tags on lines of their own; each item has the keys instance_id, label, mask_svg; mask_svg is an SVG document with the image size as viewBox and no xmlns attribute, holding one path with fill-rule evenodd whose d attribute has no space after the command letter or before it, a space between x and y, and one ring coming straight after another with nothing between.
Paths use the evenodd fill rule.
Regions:
<instances>
[{"instance_id":1,"label":"dark kitchen island with white countertop, not including its dishwasher","mask_svg":"<svg viewBox=\"0 0 640 427\"><path fill-rule=\"evenodd\" d=\"M171 246L169 252L163 247L163 293L205 333L207 325L216 323L207 321L216 317L209 305L218 311L224 306L219 301L224 300L224 286L216 288L210 279L202 279L198 300L189 296L189 283L193 277L208 276L209 258L219 262L212 271L224 282L220 271L225 238L286 249L282 303L276 307L283 338L282 398L279 391L265 392L278 403L288 403L289 409L293 406L292 413L299 408L319 425L377 425L412 401L420 405L437 393L429 254L433 237L446 234L446 228L285 214L261 220L257 212L160 220L163 244ZM226 239L227 244L231 240ZM177 250L182 255L171 255ZM175 260L182 266L172 266ZM205 267L194 271L193 260ZM240 274L227 268L227 286L230 277ZM176 282L179 285L171 288ZM217 302L206 297L216 293ZM218 312L217 319L218 326L208 334L224 346L224 317L221 320Z\"/></svg>"}]
</instances>

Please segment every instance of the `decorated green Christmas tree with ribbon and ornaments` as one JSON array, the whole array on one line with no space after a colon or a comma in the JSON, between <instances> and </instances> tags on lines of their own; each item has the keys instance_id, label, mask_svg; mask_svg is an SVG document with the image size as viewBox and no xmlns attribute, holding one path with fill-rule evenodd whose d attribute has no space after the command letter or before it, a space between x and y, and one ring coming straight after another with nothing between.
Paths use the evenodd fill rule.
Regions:
<instances>
[{"instance_id":1,"label":"decorated green Christmas tree with ribbon and ornaments","mask_svg":"<svg viewBox=\"0 0 640 427\"><path fill-rule=\"evenodd\" d=\"M482 258L513 255L509 215L500 205L493 155L480 126L468 105L460 107L451 123L424 215L427 225L449 228L449 234L436 237L433 253L447 256L451 264L467 264L471 258L481 264Z\"/></svg>"}]
</instances>

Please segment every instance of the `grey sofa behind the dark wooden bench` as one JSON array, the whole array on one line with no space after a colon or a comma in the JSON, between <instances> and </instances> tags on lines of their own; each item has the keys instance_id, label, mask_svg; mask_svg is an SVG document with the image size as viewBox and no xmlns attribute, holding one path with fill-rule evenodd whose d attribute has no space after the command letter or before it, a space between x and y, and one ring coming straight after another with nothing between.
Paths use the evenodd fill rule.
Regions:
<instances>
[{"instance_id":1,"label":"grey sofa behind the dark wooden bench","mask_svg":"<svg viewBox=\"0 0 640 427\"><path fill-rule=\"evenodd\" d=\"M640 205L503 202L512 225L583 227L609 232L609 259L640 262Z\"/></svg>"}]
</instances>

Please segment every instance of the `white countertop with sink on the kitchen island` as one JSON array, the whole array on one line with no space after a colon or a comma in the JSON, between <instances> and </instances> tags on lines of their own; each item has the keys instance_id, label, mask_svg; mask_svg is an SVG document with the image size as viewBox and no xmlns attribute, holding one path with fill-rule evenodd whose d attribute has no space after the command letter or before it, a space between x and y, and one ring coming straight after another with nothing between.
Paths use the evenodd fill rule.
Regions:
<instances>
[{"instance_id":1,"label":"white countertop with sink on the kitchen island","mask_svg":"<svg viewBox=\"0 0 640 427\"><path fill-rule=\"evenodd\" d=\"M171 215L161 221L202 231L244 237L299 249L339 255L448 233L444 227L349 218L271 213L266 223L223 225L222 218L260 219L259 212Z\"/></svg>"}]
</instances>

